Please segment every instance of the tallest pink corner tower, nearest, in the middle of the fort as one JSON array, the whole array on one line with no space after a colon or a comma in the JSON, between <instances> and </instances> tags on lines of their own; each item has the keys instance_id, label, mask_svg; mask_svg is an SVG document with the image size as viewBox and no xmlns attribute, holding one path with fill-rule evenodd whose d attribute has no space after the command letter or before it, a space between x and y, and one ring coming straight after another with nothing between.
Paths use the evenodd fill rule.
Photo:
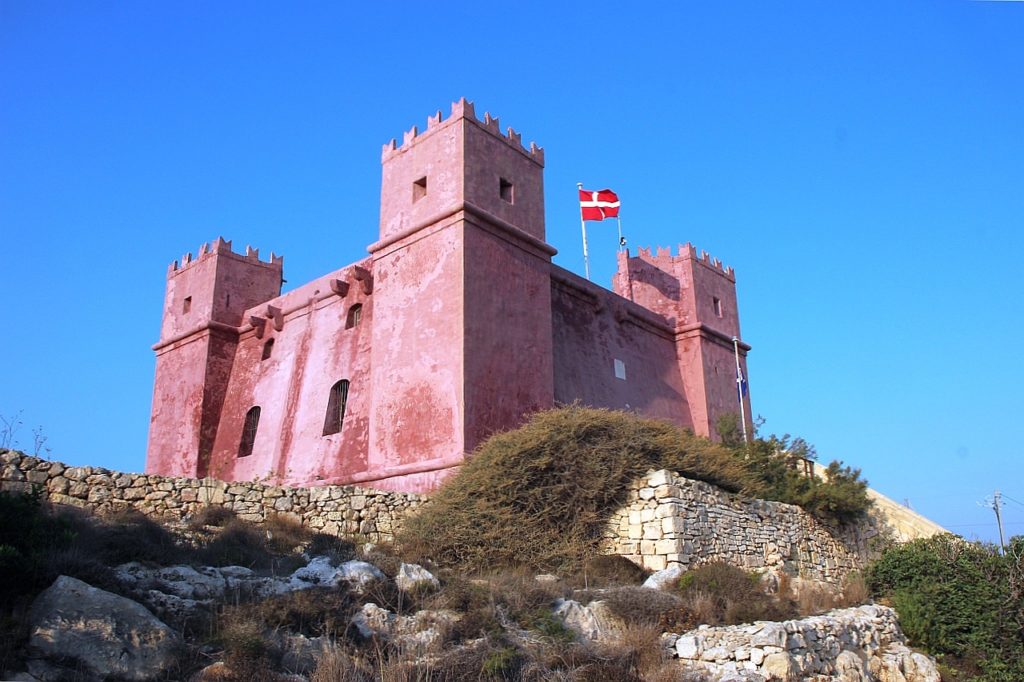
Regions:
<instances>
[{"instance_id":1,"label":"tallest pink corner tower, nearest, in the middle of the fort","mask_svg":"<svg viewBox=\"0 0 1024 682\"><path fill-rule=\"evenodd\" d=\"M382 166L370 465L429 488L553 403L544 151L461 99Z\"/></svg>"}]
</instances>

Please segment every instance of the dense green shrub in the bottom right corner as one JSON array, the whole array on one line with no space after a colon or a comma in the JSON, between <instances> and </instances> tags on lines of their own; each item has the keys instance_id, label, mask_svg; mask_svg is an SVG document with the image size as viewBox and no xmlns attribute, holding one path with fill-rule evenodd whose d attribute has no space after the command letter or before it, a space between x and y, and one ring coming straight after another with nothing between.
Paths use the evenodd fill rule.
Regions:
<instances>
[{"instance_id":1,"label":"dense green shrub in the bottom right corner","mask_svg":"<svg viewBox=\"0 0 1024 682\"><path fill-rule=\"evenodd\" d=\"M954 536L888 549L866 571L877 597L892 601L910 641L976 665L984 680L1024 679L1024 539L1000 556Z\"/></svg>"}]
</instances>

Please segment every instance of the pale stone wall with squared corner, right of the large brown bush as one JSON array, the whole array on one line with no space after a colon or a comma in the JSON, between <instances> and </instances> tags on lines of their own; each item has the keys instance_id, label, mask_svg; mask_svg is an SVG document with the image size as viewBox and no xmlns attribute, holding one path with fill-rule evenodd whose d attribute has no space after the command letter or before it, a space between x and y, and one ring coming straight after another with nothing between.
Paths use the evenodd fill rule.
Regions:
<instances>
[{"instance_id":1,"label":"pale stone wall with squared corner, right of the large brown bush","mask_svg":"<svg viewBox=\"0 0 1024 682\"><path fill-rule=\"evenodd\" d=\"M626 506L608 524L605 547L653 570L725 561L839 585L864 566L868 542L878 535L870 520L828 527L794 505L652 471L630 487Z\"/></svg>"}]
</instances>

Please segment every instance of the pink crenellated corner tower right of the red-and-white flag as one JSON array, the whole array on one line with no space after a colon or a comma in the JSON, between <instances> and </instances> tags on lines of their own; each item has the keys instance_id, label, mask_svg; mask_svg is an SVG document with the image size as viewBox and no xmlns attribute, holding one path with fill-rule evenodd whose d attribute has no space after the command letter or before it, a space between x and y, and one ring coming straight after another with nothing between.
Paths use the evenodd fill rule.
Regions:
<instances>
[{"instance_id":1,"label":"pink crenellated corner tower right of the red-and-white flag","mask_svg":"<svg viewBox=\"0 0 1024 682\"><path fill-rule=\"evenodd\" d=\"M739 337L736 275L731 267L690 244L618 254L613 291L663 315L675 335L676 358L693 430L717 437L719 417L739 412L733 337ZM746 351L739 342L739 366L746 375ZM744 399L751 424L751 402Z\"/></svg>"}]
</instances>

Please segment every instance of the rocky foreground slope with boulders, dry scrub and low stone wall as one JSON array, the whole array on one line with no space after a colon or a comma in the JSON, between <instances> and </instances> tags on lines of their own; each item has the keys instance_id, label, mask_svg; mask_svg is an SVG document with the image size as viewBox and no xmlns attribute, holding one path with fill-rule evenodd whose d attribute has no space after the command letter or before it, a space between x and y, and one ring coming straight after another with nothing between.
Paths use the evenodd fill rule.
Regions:
<instances>
[{"instance_id":1,"label":"rocky foreground slope with boulders, dry scrub and low stone wall","mask_svg":"<svg viewBox=\"0 0 1024 682\"><path fill-rule=\"evenodd\" d=\"M121 594L61 576L35 599L24 666L5 679L356 680L376 678L387 657L387 679L394 680L597 679L586 673L588 666L592 673L610 673L603 679L939 680L934 663L905 646L895 612L884 606L780 623L658 629L647 652L654 665L634 662L616 669L608 665L611 652L624 649L638 624L647 631L652 625L624 617L616 602L643 607L655 595L665 603L677 599L667 591L672 571L639 587L582 590L554 576L521 577L515 589L542 595L532 598L541 612L525 617L521 604L477 579L462 587L489 595L495 623L474 629L465 623L480 615L472 598L461 604L449 599L452 607L441 607L445 600L437 596L450 588L428 569L393 557L381 560L373 546L365 555L309 556L282 576L243 566L129 562L115 568ZM366 560L373 557L376 563ZM301 610L295 601L300 595L322 607L318 613L307 607L305 624L294 614L271 624L259 613L260 604ZM665 612L665 605L651 609ZM326 613L343 622L325 627ZM589 650L590 658L560 668L541 663L540 652L555 648L581 658ZM366 663L360 650L387 653ZM526 660L529 651L538 660Z\"/></svg>"}]
</instances>

